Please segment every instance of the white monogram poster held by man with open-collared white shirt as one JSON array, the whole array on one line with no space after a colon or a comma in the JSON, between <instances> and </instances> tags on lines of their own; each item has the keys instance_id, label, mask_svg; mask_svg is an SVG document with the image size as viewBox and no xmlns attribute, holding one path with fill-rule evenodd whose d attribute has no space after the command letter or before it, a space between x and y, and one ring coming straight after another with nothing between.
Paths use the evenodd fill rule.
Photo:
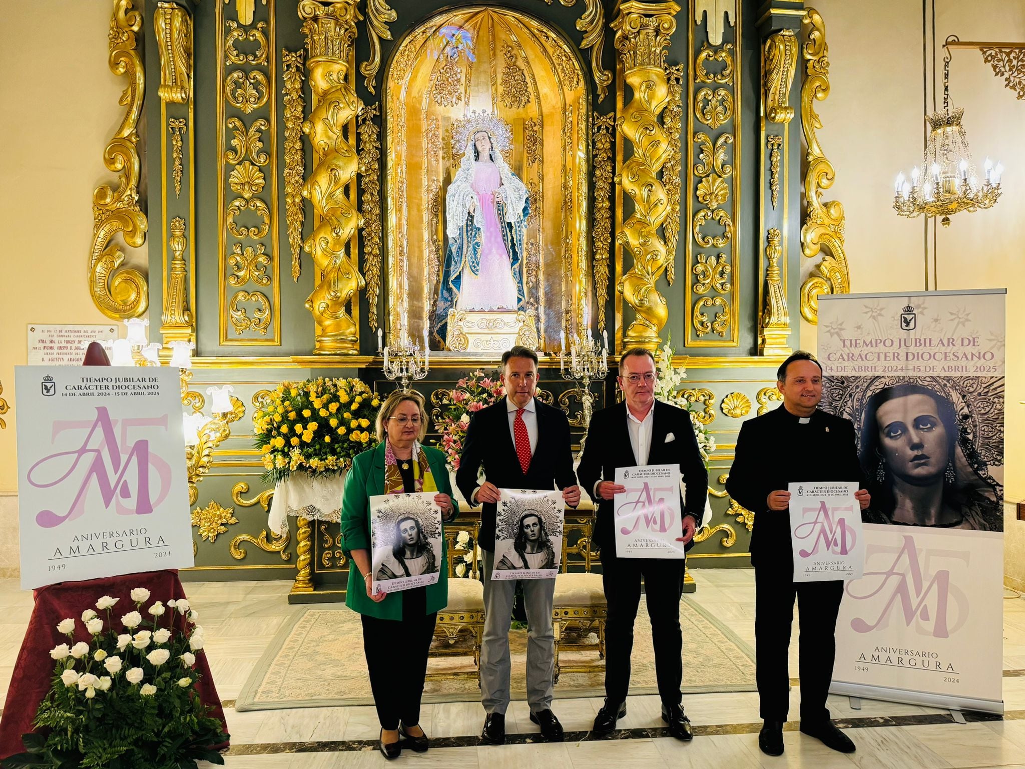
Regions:
<instances>
[{"instance_id":1,"label":"white monogram poster held by man with open-collared white shirt","mask_svg":"<svg viewBox=\"0 0 1025 769\"><path fill-rule=\"evenodd\" d=\"M616 468L616 483L626 491L616 494L614 526L619 558L685 558L679 464Z\"/></svg>"}]
</instances>

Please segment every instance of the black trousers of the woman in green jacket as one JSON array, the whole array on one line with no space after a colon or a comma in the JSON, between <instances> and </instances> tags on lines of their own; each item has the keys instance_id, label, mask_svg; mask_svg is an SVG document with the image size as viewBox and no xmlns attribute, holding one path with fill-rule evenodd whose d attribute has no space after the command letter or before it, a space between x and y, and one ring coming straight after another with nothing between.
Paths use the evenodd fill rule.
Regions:
<instances>
[{"instance_id":1,"label":"black trousers of the woman in green jacket","mask_svg":"<svg viewBox=\"0 0 1025 769\"><path fill-rule=\"evenodd\" d=\"M423 590L415 588L407 593ZM406 726L420 723L427 652L438 619L438 612L423 613L426 607L422 597L403 596L402 607L401 620L362 615L363 651L377 720L382 729L389 731L398 729L400 721Z\"/></svg>"}]
</instances>

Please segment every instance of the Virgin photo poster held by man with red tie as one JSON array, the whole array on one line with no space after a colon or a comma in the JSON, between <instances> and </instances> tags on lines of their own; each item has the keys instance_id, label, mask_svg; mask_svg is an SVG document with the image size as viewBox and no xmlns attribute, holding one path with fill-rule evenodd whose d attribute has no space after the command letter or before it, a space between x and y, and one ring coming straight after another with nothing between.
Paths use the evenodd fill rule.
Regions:
<instances>
[{"instance_id":1,"label":"Virgin photo poster held by man with red tie","mask_svg":"<svg viewBox=\"0 0 1025 769\"><path fill-rule=\"evenodd\" d=\"M563 554L563 495L501 489L492 579L554 579Z\"/></svg>"}]
</instances>

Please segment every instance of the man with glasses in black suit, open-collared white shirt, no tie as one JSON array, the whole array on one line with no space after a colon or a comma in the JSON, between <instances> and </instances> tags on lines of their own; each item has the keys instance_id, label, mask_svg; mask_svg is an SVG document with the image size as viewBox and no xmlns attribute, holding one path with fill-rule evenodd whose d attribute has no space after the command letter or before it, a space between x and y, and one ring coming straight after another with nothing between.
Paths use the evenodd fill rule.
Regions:
<instances>
[{"instance_id":1,"label":"man with glasses in black suit, open-collared white shirt, no tie","mask_svg":"<svg viewBox=\"0 0 1025 769\"><path fill-rule=\"evenodd\" d=\"M617 468L679 464L687 485L682 502L684 542L694 537L704 513L708 471L698 449L690 414L655 400L655 358L647 350L627 350L619 359L619 388L624 403L598 411L590 420L583 456L577 468L580 485L599 501L594 541L602 549L602 583L609 613L605 622L605 705L593 731L610 732L626 715L630 684L633 620L644 577L648 615L655 647L655 673L662 699L662 720L676 739L694 735L684 713L683 633L680 599L684 594L683 558L619 558L613 529L613 498L625 491L615 482Z\"/></svg>"}]
</instances>

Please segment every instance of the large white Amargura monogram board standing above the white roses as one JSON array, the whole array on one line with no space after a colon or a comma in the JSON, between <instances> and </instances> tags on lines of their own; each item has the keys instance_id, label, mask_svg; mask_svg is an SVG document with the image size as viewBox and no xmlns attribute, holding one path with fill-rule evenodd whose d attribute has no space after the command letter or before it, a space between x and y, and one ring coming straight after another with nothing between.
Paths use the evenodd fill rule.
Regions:
<instances>
[{"instance_id":1,"label":"large white Amargura monogram board standing above the white roses","mask_svg":"<svg viewBox=\"0 0 1025 769\"><path fill-rule=\"evenodd\" d=\"M194 564L179 379L15 367L22 590Z\"/></svg>"}]
</instances>

